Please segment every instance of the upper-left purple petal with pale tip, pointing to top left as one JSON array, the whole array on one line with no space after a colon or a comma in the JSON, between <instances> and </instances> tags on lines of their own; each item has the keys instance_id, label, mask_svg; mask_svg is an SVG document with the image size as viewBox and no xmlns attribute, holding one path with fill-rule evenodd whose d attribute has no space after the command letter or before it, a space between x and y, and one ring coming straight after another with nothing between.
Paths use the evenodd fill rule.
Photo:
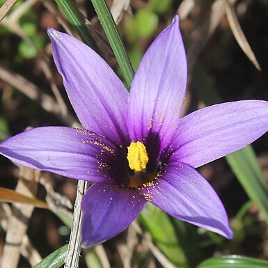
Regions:
<instances>
[{"instance_id":1,"label":"upper-left purple petal with pale tip, pointing to top left","mask_svg":"<svg viewBox=\"0 0 268 268\"><path fill-rule=\"evenodd\" d=\"M84 128L120 142L126 133L128 93L109 65L79 40L48 29L63 84Z\"/></svg>"}]
</instances>

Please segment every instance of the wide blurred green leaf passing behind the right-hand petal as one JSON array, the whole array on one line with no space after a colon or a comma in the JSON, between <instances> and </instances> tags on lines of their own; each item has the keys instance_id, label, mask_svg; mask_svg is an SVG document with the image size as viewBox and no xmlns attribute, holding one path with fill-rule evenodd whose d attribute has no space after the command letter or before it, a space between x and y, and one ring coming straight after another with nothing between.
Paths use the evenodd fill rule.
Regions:
<instances>
[{"instance_id":1,"label":"wide blurred green leaf passing behind the right-hand petal","mask_svg":"<svg viewBox=\"0 0 268 268\"><path fill-rule=\"evenodd\" d=\"M196 83L195 86L198 89L200 99L205 104L211 105L221 102L221 98L209 83L207 74L200 64L196 64L194 68L192 81ZM268 223L268 185L265 182L265 178L263 178L260 165L251 145L226 156L226 160L240 184L242 184L246 194L258 205Z\"/></svg>"}]
</instances>

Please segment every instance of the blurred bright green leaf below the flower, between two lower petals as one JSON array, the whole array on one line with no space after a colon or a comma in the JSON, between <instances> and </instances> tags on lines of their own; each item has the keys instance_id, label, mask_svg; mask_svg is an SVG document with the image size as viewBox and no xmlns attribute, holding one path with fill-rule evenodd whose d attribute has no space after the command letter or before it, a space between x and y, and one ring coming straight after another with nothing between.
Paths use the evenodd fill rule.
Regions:
<instances>
[{"instance_id":1,"label":"blurred bright green leaf below the flower, between two lower petals","mask_svg":"<svg viewBox=\"0 0 268 268\"><path fill-rule=\"evenodd\" d=\"M180 246L175 229L168 215L154 205L148 203L139 219L152 235L159 249L180 268L186 268L187 258Z\"/></svg>"}]
</instances>

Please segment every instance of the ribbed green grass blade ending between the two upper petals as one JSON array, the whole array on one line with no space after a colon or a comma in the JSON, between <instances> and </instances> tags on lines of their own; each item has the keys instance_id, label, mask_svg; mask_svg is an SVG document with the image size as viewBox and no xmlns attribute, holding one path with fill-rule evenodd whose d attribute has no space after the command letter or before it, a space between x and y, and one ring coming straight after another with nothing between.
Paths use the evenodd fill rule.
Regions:
<instances>
[{"instance_id":1,"label":"ribbed green grass blade ending between the two upper petals","mask_svg":"<svg viewBox=\"0 0 268 268\"><path fill-rule=\"evenodd\" d=\"M118 29L116 28L116 23L113 20L113 16L111 15L105 0L91 0L91 2L95 8L97 17L99 17L100 22L102 23L104 32L107 35L111 48L113 49L113 53L115 54L118 64L125 77L127 87L129 88L134 77L134 70L127 56L123 41L118 33Z\"/></svg>"}]
</instances>

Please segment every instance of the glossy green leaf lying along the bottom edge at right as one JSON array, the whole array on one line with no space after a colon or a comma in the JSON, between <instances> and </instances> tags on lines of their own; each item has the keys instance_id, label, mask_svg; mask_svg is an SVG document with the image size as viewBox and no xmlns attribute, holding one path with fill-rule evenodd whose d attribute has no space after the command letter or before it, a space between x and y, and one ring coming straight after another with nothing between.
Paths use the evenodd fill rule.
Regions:
<instances>
[{"instance_id":1,"label":"glossy green leaf lying along the bottom edge at right","mask_svg":"<svg viewBox=\"0 0 268 268\"><path fill-rule=\"evenodd\" d=\"M229 255L205 260L197 268L267 268L266 260Z\"/></svg>"}]
</instances>

